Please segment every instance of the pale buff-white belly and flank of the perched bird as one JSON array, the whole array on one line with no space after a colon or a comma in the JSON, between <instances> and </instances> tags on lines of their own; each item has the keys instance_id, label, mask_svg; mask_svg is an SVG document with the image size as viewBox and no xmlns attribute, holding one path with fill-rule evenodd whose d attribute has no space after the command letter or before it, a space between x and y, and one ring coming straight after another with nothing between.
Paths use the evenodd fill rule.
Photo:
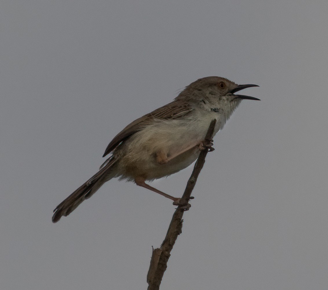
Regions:
<instances>
[{"instance_id":1,"label":"pale buff-white belly and flank of the perched bird","mask_svg":"<svg viewBox=\"0 0 328 290\"><path fill-rule=\"evenodd\" d=\"M212 116L210 118L213 119ZM210 118L208 122L171 120L156 123L133 134L117 150L121 155L118 162L120 179L132 181L141 176L146 180L154 180L191 165L198 158L200 151L197 145L205 138L212 120ZM169 159L170 156L175 157L160 164L156 160L158 152Z\"/></svg>"}]
</instances>

